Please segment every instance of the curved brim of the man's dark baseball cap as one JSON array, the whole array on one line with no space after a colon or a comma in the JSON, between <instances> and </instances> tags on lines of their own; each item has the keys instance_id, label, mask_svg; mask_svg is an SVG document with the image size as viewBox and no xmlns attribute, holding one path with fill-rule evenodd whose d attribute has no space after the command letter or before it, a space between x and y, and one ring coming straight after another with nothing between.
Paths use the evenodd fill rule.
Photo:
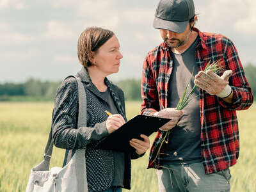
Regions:
<instances>
[{"instance_id":1,"label":"curved brim of the man's dark baseball cap","mask_svg":"<svg viewBox=\"0 0 256 192\"><path fill-rule=\"evenodd\" d=\"M156 29L166 29L175 33L182 33L188 26L188 20L183 22L163 20L155 17L153 27Z\"/></svg>"}]
</instances>

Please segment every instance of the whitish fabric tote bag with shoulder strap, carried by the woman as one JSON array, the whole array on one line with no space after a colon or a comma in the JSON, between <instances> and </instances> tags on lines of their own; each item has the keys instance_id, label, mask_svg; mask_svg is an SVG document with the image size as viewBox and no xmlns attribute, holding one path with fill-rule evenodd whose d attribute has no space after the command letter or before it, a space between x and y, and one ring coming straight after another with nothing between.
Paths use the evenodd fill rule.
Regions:
<instances>
[{"instance_id":1,"label":"whitish fabric tote bag with shoulder strap, carried by the woman","mask_svg":"<svg viewBox=\"0 0 256 192\"><path fill-rule=\"evenodd\" d=\"M70 77L70 76L69 76ZM75 76L72 76L75 77ZM68 77L67 77L68 78ZM77 127L86 127L86 95L83 83L76 77L79 95ZM68 164L49 170L52 154L52 129L45 147L43 161L32 168L26 192L88 192L85 148L76 150Z\"/></svg>"}]
</instances>

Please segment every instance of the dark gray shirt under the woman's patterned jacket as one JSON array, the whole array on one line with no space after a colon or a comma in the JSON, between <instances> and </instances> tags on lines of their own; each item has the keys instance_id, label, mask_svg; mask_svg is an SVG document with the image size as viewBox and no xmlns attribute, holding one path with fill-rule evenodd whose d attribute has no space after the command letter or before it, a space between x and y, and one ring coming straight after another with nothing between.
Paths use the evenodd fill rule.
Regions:
<instances>
[{"instance_id":1,"label":"dark gray shirt under the woman's patterned jacket","mask_svg":"<svg viewBox=\"0 0 256 192\"><path fill-rule=\"evenodd\" d=\"M118 110L116 109L115 103L111 97L109 90L106 92L100 92L102 97L108 101L108 110L112 114L118 114ZM118 143L116 143L118 145ZM114 179L112 182L112 186L124 186L124 153L116 152L113 150L113 157L114 157Z\"/></svg>"}]
</instances>

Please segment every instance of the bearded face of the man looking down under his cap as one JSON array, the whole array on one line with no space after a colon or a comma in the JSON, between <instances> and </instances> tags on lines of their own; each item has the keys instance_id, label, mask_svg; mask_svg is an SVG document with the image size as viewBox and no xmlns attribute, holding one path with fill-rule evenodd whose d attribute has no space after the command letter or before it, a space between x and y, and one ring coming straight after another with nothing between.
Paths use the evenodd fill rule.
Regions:
<instances>
[{"instance_id":1,"label":"bearded face of the man looking down under his cap","mask_svg":"<svg viewBox=\"0 0 256 192\"><path fill-rule=\"evenodd\" d=\"M170 48L177 48L186 45L189 39L191 24L188 23L187 28L182 33L175 33L166 29L160 29L163 40Z\"/></svg>"}]
</instances>

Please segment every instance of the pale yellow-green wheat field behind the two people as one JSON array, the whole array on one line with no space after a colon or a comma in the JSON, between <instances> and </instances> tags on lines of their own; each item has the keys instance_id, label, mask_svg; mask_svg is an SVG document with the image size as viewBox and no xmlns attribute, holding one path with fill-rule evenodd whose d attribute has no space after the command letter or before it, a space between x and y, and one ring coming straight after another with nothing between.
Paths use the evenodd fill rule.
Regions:
<instances>
[{"instance_id":1,"label":"pale yellow-green wheat field behind the two people","mask_svg":"<svg viewBox=\"0 0 256 192\"><path fill-rule=\"evenodd\" d=\"M0 102L0 192L26 190L32 166L44 155L52 107L52 102ZM140 102L126 102L126 111L128 119L137 115ZM237 114L241 149L231 168L231 191L252 192L256 191L256 106ZM51 167L61 166L63 158L64 150L54 148ZM147 170L147 163L148 152L132 161L132 192L158 191L156 171Z\"/></svg>"}]
</instances>

